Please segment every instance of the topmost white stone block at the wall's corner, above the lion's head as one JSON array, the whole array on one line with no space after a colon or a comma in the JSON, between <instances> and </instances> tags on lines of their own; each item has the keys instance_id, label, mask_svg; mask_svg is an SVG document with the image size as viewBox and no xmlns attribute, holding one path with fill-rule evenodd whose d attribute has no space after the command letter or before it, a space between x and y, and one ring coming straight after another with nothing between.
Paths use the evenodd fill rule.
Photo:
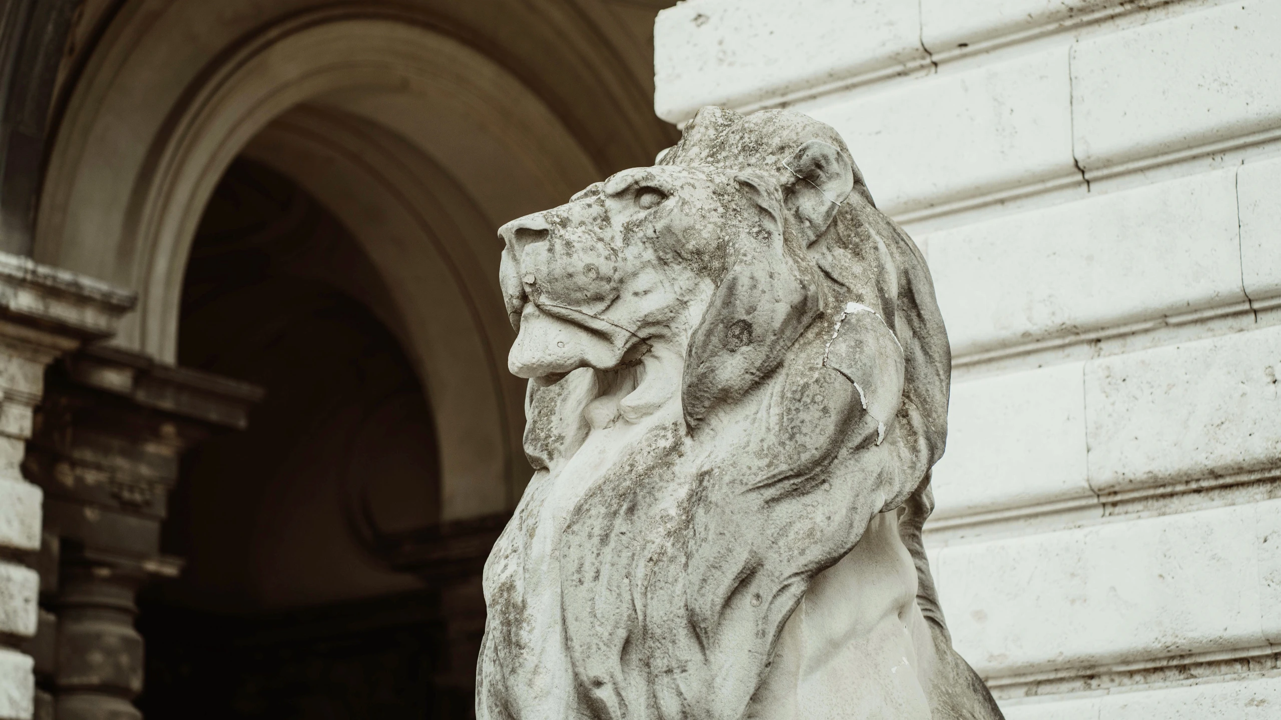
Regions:
<instances>
[{"instance_id":1,"label":"topmost white stone block at the wall's corner, above the lion's head","mask_svg":"<svg viewBox=\"0 0 1281 720\"><path fill-rule=\"evenodd\" d=\"M658 14L655 110L743 106L926 59L916 3L694 0Z\"/></svg>"}]
</instances>

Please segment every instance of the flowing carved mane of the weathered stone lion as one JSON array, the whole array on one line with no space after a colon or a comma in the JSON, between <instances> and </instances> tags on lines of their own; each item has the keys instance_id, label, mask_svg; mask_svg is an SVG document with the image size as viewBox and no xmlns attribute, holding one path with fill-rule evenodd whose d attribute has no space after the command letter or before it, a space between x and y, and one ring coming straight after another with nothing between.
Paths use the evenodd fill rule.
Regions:
<instances>
[{"instance_id":1,"label":"flowing carved mane of the weathered stone lion","mask_svg":"<svg viewBox=\"0 0 1281 720\"><path fill-rule=\"evenodd\" d=\"M781 187L798 181L788 159L811 141L849 156L834 129L798 113L705 108L658 164ZM834 232L804 247L783 227L781 251L728 251L688 345L683 421L651 428L569 514L560 612L583 717L742 717L810 582L877 512L899 510L917 602L945 634L921 525L947 436L948 341L920 250L851 167ZM781 193L769 195L761 202L785 217ZM770 292L787 313L756 300ZM574 411L570 389L556 392L543 407ZM494 553L523 542L505 533ZM505 641L516 638L485 639Z\"/></svg>"}]
</instances>

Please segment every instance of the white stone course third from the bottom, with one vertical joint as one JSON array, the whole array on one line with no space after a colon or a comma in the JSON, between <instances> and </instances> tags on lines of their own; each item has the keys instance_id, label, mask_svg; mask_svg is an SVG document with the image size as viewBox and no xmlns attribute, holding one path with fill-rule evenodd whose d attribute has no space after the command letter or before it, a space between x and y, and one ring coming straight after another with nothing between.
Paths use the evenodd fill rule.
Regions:
<instances>
[{"instance_id":1,"label":"white stone course third from the bottom, with one vertical joint","mask_svg":"<svg viewBox=\"0 0 1281 720\"><path fill-rule=\"evenodd\" d=\"M1276 378L1273 325L956 383L934 518L1278 469Z\"/></svg>"}]
</instances>

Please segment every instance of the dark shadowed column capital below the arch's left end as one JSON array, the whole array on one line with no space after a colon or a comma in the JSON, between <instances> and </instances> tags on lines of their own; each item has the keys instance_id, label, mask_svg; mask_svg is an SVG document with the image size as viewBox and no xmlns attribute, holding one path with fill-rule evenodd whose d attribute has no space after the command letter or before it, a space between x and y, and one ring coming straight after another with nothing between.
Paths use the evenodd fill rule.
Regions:
<instances>
[{"instance_id":1,"label":"dark shadowed column capital below the arch's left end","mask_svg":"<svg viewBox=\"0 0 1281 720\"><path fill-rule=\"evenodd\" d=\"M87 347L50 369L24 470L45 488L64 542L137 560L156 556L182 452L241 429L255 386Z\"/></svg>"}]
</instances>

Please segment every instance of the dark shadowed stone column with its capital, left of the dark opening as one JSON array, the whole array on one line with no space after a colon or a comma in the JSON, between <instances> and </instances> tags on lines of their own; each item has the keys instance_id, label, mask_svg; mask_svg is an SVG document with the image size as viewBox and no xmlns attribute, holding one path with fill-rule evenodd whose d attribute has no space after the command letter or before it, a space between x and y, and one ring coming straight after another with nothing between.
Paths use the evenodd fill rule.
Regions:
<instances>
[{"instance_id":1,"label":"dark shadowed stone column with its capital, left of the dark opening","mask_svg":"<svg viewBox=\"0 0 1281 720\"><path fill-rule=\"evenodd\" d=\"M245 428L263 391L111 347L68 356L46 382L23 469L45 489L46 532L60 547L56 588L46 584L58 615L58 716L140 717L133 598L149 577L181 569L160 553L181 456L211 433Z\"/></svg>"}]
</instances>

